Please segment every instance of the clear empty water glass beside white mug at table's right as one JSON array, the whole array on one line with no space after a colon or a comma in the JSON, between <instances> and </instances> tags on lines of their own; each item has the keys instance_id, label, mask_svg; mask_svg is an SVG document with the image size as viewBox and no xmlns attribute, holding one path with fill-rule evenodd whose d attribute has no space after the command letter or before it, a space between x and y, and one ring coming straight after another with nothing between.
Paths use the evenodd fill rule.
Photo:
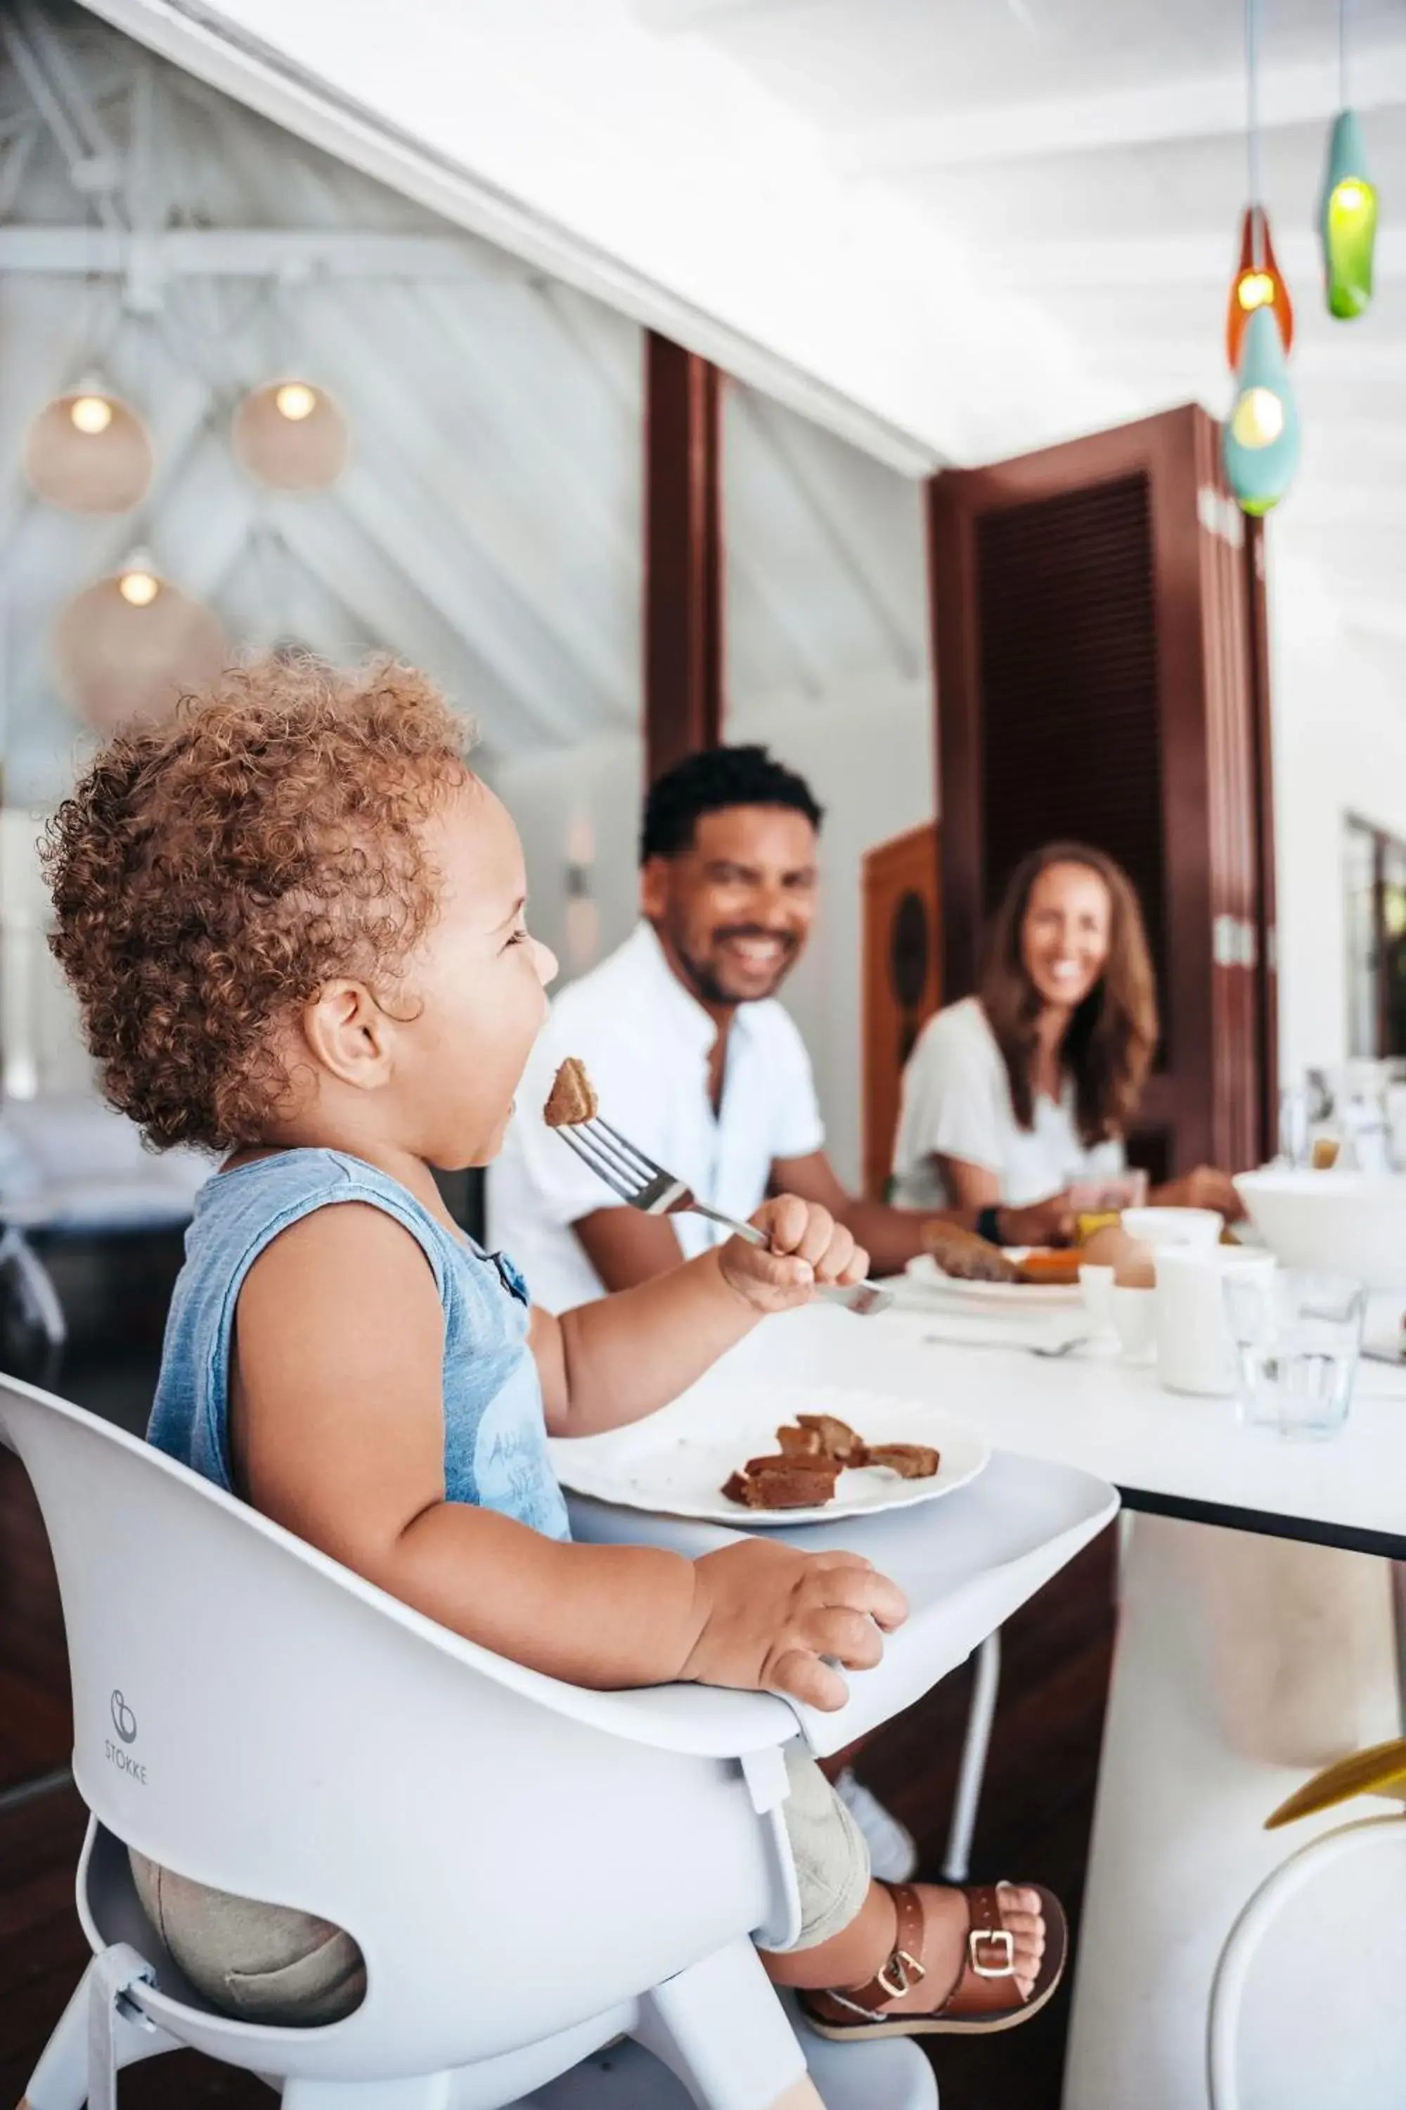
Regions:
<instances>
[{"instance_id":1,"label":"clear empty water glass beside white mug at table's right","mask_svg":"<svg viewBox=\"0 0 1406 2110\"><path fill-rule=\"evenodd\" d=\"M1366 1289L1345 1274L1231 1270L1225 1310L1239 1365L1239 1418L1282 1437L1326 1441L1351 1405Z\"/></svg>"}]
</instances>

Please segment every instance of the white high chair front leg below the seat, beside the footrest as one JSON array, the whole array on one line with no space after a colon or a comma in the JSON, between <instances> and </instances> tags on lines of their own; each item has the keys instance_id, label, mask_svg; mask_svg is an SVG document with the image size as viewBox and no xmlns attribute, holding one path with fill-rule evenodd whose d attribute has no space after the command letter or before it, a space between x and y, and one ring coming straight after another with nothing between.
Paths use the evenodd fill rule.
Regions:
<instances>
[{"instance_id":1,"label":"white high chair front leg below the seat, beside the footrest","mask_svg":"<svg viewBox=\"0 0 1406 2110\"><path fill-rule=\"evenodd\" d=\"M656 1986L630 2036L679 2076L700 2110L801 2110L820 2099L750 1941L729 1941Z\"/></svg>"}]
</instances>

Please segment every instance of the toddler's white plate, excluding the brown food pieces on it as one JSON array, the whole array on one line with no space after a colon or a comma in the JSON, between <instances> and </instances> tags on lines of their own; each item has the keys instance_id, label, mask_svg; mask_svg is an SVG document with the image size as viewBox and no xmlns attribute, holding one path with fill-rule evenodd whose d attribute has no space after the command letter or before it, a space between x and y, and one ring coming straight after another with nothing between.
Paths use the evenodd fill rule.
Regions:
<instances>
[{"instance_id":1,"label":"toddler's white plate, excluding the brown food pieces on it","mask_svg":"<svg viewBox=\"0 0 1406 2110\"><path fill-rule=\"evenodd\" d=\"M837 1414L866 1443L930 1443L940 1454L932 1479L900 1479L883 1466L841 1473L835 1500L822 1509L744 1509L729 1502L723 1481L748 1458L776 1452L776 1431L797 1414ZM970 1422L917 1399L841 1393L831 1386L748 1384L691 1399L605 1437L559 1437L550 1445L563 1488L626 1509L653 1509L704 1523L831 1523L881 1509L934 1502L974 1479L991 1445Z\"/></svg>"}]
</instances>

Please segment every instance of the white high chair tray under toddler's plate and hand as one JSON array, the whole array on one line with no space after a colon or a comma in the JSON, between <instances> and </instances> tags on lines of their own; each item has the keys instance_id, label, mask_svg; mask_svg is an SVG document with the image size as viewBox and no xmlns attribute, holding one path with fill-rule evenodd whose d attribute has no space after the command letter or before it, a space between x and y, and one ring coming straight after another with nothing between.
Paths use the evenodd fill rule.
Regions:
<instances>
[{"instance_id":1,"label":"white high chair tray under toddler's plate and hand","mask_svg":"<svg viewBox=\"0 0 1406 2110\"><path fill-rule=\"evenodd\" d=\"M696 1557L742 1536L588 1496L567 1496L567 1504L575 1538L597 1545L668 1547ZM1092 1473L997 1450L987 1471L944 1502L788 1530L788 1542L816 1553L837 1547L864 1553L909 1599L909 1620L887 1637L883 1663L847 1673L845 1707L820 1713L788 1701L809 1749L826 1758L911 1707L1115 1513L1117 1492ZM767 1530L767 1538L778 1536Z\"/></svg>"}]
</instances>

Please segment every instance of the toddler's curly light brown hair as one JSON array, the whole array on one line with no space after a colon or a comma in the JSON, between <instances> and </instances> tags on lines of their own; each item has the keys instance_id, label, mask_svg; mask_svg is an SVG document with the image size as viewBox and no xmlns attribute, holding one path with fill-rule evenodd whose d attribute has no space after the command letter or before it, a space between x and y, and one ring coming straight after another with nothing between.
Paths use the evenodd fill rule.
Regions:
<instances>
[{"instance_id":1,"label":"toddler's curly light brown hair","mask_svg":"<svg viewBox=\"0 0 1406 2110\"><path fill-rule=\"evenodd\" d=\"M436 914L422 827L468 745L409 667L274 656L103 747L46 829L48 943L150 1144L263 1139L276 1028L339 975L396 990Z\"/></svg>"}]
</instances>

